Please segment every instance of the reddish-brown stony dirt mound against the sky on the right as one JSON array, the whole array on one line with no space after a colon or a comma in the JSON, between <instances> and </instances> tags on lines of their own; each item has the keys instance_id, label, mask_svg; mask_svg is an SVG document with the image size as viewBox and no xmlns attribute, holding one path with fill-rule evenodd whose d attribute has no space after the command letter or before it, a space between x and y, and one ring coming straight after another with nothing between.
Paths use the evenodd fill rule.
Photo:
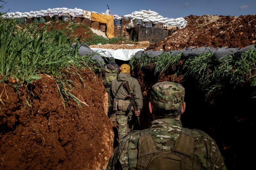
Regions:
<instances>
[{"instance_id":1,"label":"reddish-brown stony dirt mound against the sky on the right","mask_svg":"<svg viewBox=\"0 0 256 170\"><path fill-rule=\"evenodd\" d=\"M185 17L188 25L163 41L151 44L154 50L188 47L244 48L256 43L256 16L195 16Z\"/></svg>"}]
</instances>

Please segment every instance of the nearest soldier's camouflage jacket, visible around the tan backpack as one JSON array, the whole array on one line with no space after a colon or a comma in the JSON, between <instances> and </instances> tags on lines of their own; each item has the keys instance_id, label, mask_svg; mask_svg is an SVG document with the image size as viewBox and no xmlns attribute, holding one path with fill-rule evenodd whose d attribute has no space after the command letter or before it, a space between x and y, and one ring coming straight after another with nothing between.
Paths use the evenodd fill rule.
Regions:
<instances>
[{"instance_id":1,"label":"nearest soldier's camouflage jacket, visible around the tan backpack","mask_svg":"<svg viewBox=\"0 0 256 170\"><path fill-rule=\"evenodd\" d=\"M151 122L149 133L158 150L169 151L174 147L181 133L179 119L157 119ZM206 133L193 129L194 159L193 169L226 169L224 160L215 141ZM140 131L132 131L125 136L111 156L107 169L136 169L138 162L138 141Z\"/></svg>"}]
</instances>

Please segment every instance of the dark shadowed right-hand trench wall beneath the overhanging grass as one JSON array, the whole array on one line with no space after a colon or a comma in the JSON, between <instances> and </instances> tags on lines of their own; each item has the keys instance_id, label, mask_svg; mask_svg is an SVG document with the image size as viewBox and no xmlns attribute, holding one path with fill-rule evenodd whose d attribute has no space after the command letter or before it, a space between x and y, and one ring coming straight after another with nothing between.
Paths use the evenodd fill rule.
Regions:
<instances>
[{"instance_id":1,"label":"dark shadowed right-hand trench wall beneath the overhanging grass","mask_svg":"<svg viewBox=\"0 0 256 170\"><path fill-rule=\"evenodd\" d=\"M116 60L116 63L120 66L128 62ZM244 85L230 88L227 84L221 93L206 96L204 91L198 90L192 78L184 83L182 73L175 77L175 71L169 69L164 74L154 76L154 70L155 64L151 63L146 69L135 66L131 72L131 76L139 81L143 95L140 129L149 128L152 121L148 113L151 86L161 81L180 83L186 90L186 110L181 116L182 126L202 130L212 137L220 149L227 169L252 167L253 158L248 152L254 144L252 129L256 100L251 94L256 91L255 87Z\"/></svg>"}]
</instances>

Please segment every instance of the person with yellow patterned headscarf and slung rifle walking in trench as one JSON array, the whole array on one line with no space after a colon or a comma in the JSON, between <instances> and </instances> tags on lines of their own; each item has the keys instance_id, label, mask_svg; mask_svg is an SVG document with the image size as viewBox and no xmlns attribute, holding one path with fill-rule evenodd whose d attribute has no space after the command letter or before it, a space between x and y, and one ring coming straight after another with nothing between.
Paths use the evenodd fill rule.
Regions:
<instances>
[{"instance_id":1,"label":"person with yellow patterned headscarf and slung rifle walking in trench","mask_svg":"<svg viewBox=\"0 0 256 170\"><path fill-rule=\"evenodd\" d=\"M118 137L119 139L122 139L125 135L127 135L127 133L132 131L134 125L133 117L134 115L140 115L143 100L138 80L130 75L130 66L128 64L122 64L120 71L120 74L118 74L117 78L112 82L111 90L113 95L113 110L114 114L116 114ZM133 92L138 111L134 111L133 107L131 110L128 110L128 105L131 103L131 99L130 97L127 97L128 92L124 86L125 81L128 81L130 90Z\"/></svg>"}]
</instances>

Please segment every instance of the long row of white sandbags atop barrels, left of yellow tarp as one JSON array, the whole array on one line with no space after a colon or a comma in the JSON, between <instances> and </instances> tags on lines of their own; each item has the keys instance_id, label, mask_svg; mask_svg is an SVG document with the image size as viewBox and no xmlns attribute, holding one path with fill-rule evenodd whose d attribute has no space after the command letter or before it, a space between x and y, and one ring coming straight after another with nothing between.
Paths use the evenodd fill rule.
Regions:
<instances>
[{"instance_id":1,"label":"long row of white sandbags atop barrels, left of yellow tarp","mask_svg":"<svg viewBox=\"0 0 256 170\"><path fill-rule=\"evenodd\" d=\"M44 16L50 16L51 18L55 15L70 15L73 19L74 17L82 17L83 16L82 9L68 9L68 8L48 8L47 10L40 10L40 11L30 11L30 12L7 12L6 14L2 15L2 18L40 18Z\"/></svg>"}]
</instances>

